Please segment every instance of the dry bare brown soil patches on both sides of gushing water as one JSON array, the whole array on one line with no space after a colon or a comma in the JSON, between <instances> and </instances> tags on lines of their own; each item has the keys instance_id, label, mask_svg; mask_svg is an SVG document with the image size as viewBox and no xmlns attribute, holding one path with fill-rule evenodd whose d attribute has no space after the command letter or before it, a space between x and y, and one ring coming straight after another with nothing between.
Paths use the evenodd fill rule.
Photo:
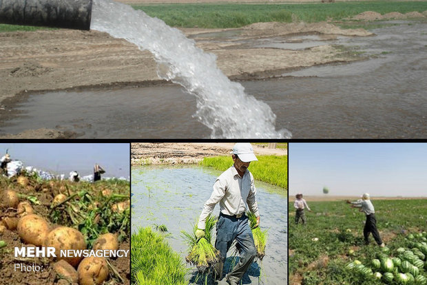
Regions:
<instances>
[{"instance_id":1,"label":"dry bare brown soil patches on both sides of gushing water","mask_svg":"<svg viewBox=\"0 0 427 285\"><path fill-rule=\"evenodd\" d=\"M186 35L213 31L182 30ZM323 34L325 40L340 34L372 35L362 29L342 30L329 23L258 23L238 30L246 39L306 33ZM312 65L357 60L332 45L298 51L248 48L230 41L218 43L218 40L198 42L197 45L216 54L218 67L229 78L241 80L280 76L284 70ZM1 33L0 122L16 115L14 106L25 101L32 92L166 84L159 80L156 68L150 52L103 32L39 30ZM67 138L72 134L40 129L6 137Z\"/></svg>"}]
</instances>

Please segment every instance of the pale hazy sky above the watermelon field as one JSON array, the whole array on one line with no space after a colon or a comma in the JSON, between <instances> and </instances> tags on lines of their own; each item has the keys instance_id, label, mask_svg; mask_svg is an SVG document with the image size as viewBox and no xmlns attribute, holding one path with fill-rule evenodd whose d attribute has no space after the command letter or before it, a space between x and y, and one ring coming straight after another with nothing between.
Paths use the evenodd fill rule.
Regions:
<instances>
[{"instance_id":1,"label":"pale hazy sky above the watermelon field","mask_svg":"<svg viewBox=\"0 0 427 285\"><path fill-rule=\"evenodd\" d=\"M289 195L427 196L427 143L289 143Z\"/></svg>"}]
</instances>

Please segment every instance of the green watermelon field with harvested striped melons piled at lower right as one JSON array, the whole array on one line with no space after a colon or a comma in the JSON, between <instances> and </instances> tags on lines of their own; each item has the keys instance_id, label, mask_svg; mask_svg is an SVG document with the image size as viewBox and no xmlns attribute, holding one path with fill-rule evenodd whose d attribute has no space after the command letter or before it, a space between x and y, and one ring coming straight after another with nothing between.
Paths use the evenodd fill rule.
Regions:
<instances>
[{"instance_id":1,"label":"green watermelon field with harvested striped melons piled at lower right","mask_svg":"<svg viewBox=\"0 0 427 285\"><path fill-rule=\"evenodd\" d=\"M306 201L306 226L289 202L289 284L427 284L427 199L373 200L384 248L344 200Z\"/></svg>"}]
</instances>

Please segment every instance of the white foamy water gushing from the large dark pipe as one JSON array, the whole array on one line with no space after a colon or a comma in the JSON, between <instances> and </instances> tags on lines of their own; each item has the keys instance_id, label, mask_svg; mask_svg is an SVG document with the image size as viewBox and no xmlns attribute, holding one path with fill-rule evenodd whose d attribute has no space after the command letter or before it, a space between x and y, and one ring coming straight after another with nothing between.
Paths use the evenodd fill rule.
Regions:
<instances>
[{"instance_id":1,"label":"white foamy water gushing from the large dark pipe","mask_svg":"<svg viewBox=\"0 0 427 285\"><path fill-rule=\"evenodd\" d=\"M194 116L212 130L211 138L291 138L287 129L275 130L269 105L245 94L240 83L221 72L215 55L160 19L122 3L94 0L90 28L152 52L158 76L196 96Z\"/></svg>"}]
</instances>

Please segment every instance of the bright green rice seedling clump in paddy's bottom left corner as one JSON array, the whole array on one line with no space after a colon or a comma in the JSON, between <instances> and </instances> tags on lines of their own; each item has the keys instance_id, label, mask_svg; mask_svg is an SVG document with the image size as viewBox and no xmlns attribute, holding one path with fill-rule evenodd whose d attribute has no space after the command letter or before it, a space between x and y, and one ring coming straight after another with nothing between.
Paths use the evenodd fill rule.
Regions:
<instances>
[{"instance_id":1,"label":"bright green rice seedling clump in paddy's bottom left corner","mask_svg":"<svg viewBox=\"0 0 427 285\"><path fill-rule=\"evenodd\" d=\"M164 239L149 226L132 234L132 284L188 284L185 281L185 264Z\"/></svg>"}]
</instances>

